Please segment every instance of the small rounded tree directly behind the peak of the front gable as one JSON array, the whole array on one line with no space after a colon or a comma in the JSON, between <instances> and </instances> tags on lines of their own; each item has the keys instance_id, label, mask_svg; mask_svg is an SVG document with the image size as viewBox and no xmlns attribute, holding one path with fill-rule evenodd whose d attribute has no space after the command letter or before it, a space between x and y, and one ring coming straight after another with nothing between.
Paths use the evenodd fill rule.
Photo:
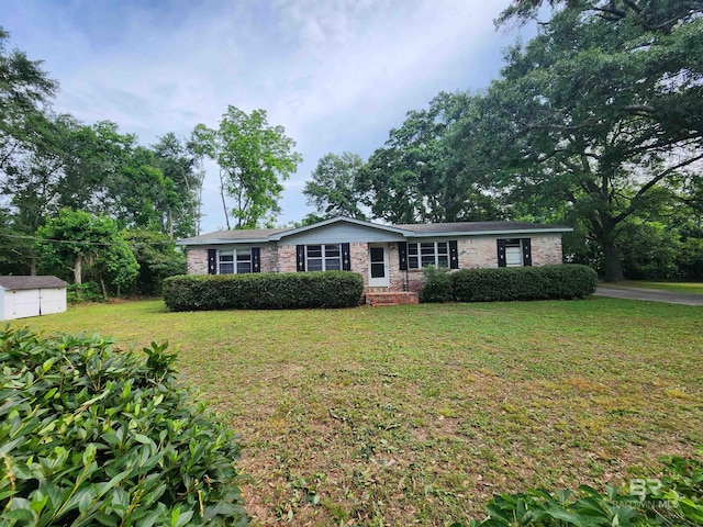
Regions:
<instances>
[{"instance_id":1,"label":"small rounded tree directly behind the peak of the front gable","mask_svg":"<svg viewBox=\"0 0 703 527\"><path fill-rule=\"evenodd\" d=\"M308 204L316 209L319 217L349 216L366 220L361 211L364 197L358 188L364 159L358 154L326 154L320 158L305 182L303 194Z\"/></svg>"}]
</instances>

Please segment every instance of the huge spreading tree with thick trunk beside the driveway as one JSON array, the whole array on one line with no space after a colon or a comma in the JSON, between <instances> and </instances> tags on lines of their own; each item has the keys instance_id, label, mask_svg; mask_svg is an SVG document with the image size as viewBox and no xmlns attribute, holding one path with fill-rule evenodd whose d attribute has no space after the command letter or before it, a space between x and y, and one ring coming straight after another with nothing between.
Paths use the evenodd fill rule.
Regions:
<instances>
[{"instance_id":1,"label":"huge spreading tree with thick trunk beside the driveway","mask_svg":"<svg viewBox=\"0 0 703 527\"><path fill-rule=\"evenodd\" d=\"M512 49L482 103L503 184L568 202L602 248L606 280L621 280L625 222L703 159L703 18L663 31L559 11Z\"/></svg>"}]
</instances>

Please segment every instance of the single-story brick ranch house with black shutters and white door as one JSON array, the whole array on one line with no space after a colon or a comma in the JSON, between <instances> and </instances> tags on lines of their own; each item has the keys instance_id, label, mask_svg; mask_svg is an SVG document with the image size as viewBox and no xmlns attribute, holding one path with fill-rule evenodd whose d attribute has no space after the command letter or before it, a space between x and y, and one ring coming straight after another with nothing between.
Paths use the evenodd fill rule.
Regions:
<instances>
[{"instance_id":1,"label":"single-story brick ranch house with black shutters and white door","mask_svg":"<svg viewBox=\"0 0 703 527\"><path fill-rule=\"evenodd\" d=\"M291 228L217 231L181 239L189 274L361 273L367 293L416 292L424 266L450 269L561 264L570 227L528 222L383 225L334 217Z\"/></svg>"}]
</instances>

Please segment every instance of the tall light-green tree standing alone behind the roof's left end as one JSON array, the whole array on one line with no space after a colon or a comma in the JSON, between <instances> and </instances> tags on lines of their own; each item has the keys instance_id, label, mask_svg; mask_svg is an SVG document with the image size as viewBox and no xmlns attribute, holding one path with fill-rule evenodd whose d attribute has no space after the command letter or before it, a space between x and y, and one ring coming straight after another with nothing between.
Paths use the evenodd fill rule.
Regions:
<instances>
[{"instance_id":1,"label":"tall light-green tree standing alone behind the roof's left end","mask_svg":"<svg viewBox=\"0 0 703 527\"><path fill-rule=\"evenodd\" d=\"M198 130L203 132L203 138L214 141L214 145L205 148L214 154L221 170L223 202L224 193L234 199L235 227L254 228L272 220L280 212L282 181L302 160L293 150L295 142L282 126L268 124L265 110L247 114L228 106L216 134L209 134L204 126ZM225 217L226 212L225 205Z\"/></svg>"}]
</instances>

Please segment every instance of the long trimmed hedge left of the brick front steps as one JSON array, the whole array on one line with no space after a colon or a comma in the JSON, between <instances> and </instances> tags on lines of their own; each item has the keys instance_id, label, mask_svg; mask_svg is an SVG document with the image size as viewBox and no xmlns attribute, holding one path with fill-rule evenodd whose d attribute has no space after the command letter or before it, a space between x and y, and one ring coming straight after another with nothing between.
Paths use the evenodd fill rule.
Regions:
<instances>
[{"instance_id":1,"label":"long trimmed hedge left of the brick front steps","mask_svg":"<svg viewBox=\"0 0 703 527\"><path fill-rule=\"evenodd\" d=\"M293 310L359 305L364 278L357 272L188 274L164 280L171 311Z\"/></svg>"}]
</instances>

